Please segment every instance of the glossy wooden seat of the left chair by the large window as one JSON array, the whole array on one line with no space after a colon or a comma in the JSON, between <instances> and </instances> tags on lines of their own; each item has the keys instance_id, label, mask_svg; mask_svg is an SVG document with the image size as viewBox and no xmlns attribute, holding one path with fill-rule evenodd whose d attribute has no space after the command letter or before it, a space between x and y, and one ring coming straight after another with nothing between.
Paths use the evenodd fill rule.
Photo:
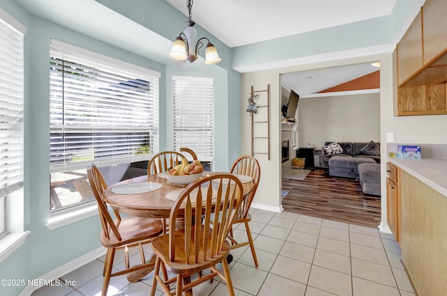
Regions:
<instances>
[{"instance_id":1,"label":"glossy wooden seat of the left chair by the large window","mask_svg":"<svg viewBox=\"0 0 447 296\"><path fill-rule=\"evenodd\" d=\"M112 231L106 237L101 231L101 244L106 248L120 247L125 244L149 240L163 233L160 219L146 217L124 217L121 221L114 220L122 240L118 240Z\"/></svg>"}]
</instances>

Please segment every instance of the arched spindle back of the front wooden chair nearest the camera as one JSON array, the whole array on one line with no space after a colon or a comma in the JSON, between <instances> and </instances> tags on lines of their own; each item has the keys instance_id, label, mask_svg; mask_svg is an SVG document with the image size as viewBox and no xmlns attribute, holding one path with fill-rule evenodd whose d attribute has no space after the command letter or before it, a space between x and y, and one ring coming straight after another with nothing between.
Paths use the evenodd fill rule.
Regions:
<instances>
[{"instance_id":1,"label":"arched spindle back of the front wooden chair nearest the camera","mask_svg":"<svg viewBox=\"0 0 447 296\"><path fill-rule=\"evenodd\" d=\"M185 256L193 264L219 254L240 208L243 192L240 180L229 173L211 173L188 185L170 212L170 260L174 262L176 256ZM212 213L220 223L212 223ZM177 217L184 217L182 230L175 229ZM182 249L175 247L178 231L184 232Z\"/></svg>"}]
</instances>

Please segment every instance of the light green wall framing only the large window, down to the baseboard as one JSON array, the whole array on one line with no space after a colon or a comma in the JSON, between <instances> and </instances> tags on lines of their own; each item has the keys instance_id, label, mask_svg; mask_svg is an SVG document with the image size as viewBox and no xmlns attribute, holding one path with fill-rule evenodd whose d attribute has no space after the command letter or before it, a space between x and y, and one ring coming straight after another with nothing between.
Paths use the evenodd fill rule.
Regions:
<instances>
[{"instance_id":1,"label":"light green wall framing only the large window, down to the baseboard","mask_svg":"<svg viewBox=\"0 0 447 296\"><path fill-rule=\"evenodd\" d=\"M2 279L36 279L101 247L98 237L101 224L97 216L53 231L45 226L50 208L50 72L48 67L50 38L156 70L161 72L161 85L165 84L164 65L124 52L37 17L27 18L27 35L24 42L24 228L31 231L31 234L18 251L0 263ZM161 104L164 104L165 88L160 88L160 98ZM17 263L10 265L8 261L17 261ZM12 268L6 268L6 266ZM1 274L3 272L6 274ZM14 290L17 288L11 288L6 292L7 294L1 294L17 295Z\"/></svg>"}]
</instances>

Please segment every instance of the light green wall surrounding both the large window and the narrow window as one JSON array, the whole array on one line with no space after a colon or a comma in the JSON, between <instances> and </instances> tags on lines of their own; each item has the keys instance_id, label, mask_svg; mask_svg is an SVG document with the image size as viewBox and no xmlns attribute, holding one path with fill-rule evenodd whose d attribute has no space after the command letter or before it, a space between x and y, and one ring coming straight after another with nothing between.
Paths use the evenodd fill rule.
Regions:
<instances>
[{"instance_id":1,"label":"light green wall surrounding both the large window and the narrow window","mask_svg":"<svg viewBox=\"0 0 447 296\"><path fill-rule=\"evenodd\" d=\"M166 5L166 2L164 3ZM200 68L201 70L166 66L30 15L15 1L4 0L0 3L0 7L27 26L27 34L24 38L24 230L31 231L24 244L0 263L1 279L36 279L101 247L98 237L101 224L98 216L83 219L53 231L45 226L50 208L50 73L48 67L50 38L161 72L161 149L169 147L168 139L172 136L172 132L168 132L167 122L170 112L166 106L172 100L172 85L167 77L170 77L169 75L200 75L214 78L216 91L214 99L216 108L219 110L215 118L216 153L221 155L216 162L217 168L227 171L235 155L240 155L240 129L237 124L240 122L238 105L240 74L238 72L231 69L224 70L217 65ZM222 52L219 48L219 54L224 52L225 50ZM224 55L228 53L223 54L222 57ZM229 65L230 58L227 57L226 60ZM230 133L235 135L233 146L228 146ZM0 294L18 295L23 288L0 287Z\"/></svg>"}]
</instances>

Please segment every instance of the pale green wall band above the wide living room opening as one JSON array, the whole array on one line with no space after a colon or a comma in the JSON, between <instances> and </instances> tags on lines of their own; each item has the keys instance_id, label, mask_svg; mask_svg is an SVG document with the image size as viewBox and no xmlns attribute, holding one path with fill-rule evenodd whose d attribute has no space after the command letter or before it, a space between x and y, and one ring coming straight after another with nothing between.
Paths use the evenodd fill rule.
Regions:
<instances>
[{"instance_id":1,"label":"pale green wall band above the wide living room opening","mask_svg":"<svg viewBox=\"0 0 447 296\"><path fill-rule=\"evenodd\" d=\"M391 15L234 47L233 67L244 69L261 64L265 68L277 68L274 63L279 61L290 61L281 64L284 67L295 65L294 60L299 58L390 45L420 2L397 0Z\"/></svg>"}]
</instances>

